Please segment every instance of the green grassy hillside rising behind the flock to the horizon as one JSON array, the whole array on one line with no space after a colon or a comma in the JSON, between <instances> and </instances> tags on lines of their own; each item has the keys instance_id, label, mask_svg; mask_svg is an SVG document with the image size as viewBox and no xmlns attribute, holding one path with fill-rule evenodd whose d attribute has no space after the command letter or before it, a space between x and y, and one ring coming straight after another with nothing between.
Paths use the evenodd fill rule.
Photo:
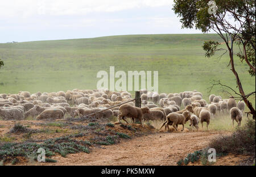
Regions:
<instances>
[{"instance_id":1,"label":"green grassy hillside rising behind the flock to the horizon","mask_svg":"<svg viewBox=\"0 0 256 177\"><path fill-rule=\"evenodd\" d=\"M227 68L228 54L221 59L204 57L201 46L210 39L222 42L214 34L194 34L0 44L0 58L5 62L0 69L0 93L93 89L100 79L97 72L109 72L109 66L126 73L158 70L159 92L198 90L208 96L213 79L236 88L236 79ZM255 91L255 77L247 74L246 64L236 60L235 65L246 93ZM212 93L228 96L220 90L216 87Z\"/></svg>"}]
</instances>

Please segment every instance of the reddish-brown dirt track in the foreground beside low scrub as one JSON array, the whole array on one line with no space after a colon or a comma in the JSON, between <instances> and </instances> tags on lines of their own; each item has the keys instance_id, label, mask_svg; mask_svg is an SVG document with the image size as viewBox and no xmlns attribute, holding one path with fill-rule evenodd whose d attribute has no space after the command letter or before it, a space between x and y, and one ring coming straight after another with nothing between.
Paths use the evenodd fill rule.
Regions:
<instances>
[{"instance_id":1,"label":"reddish-brown dirt track in the foreground beside low scrub","mask_svg":"<svg viewBox=\"0 0 256 177\"><path fill-rule=\"evenodd\" d=\"M220 132L156 133L123 140L90 154L57 155L57 163L45 165L176 165L188 153L203 149ZM42 165L42 164L40 164Z\"/></svg>"}]
</instances>

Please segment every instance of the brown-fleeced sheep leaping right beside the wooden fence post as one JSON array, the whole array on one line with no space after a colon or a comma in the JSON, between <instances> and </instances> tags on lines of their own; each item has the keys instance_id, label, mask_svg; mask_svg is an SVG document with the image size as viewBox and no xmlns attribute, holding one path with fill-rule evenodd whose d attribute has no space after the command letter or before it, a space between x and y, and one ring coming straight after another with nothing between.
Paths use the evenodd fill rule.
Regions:
<instances>
[{"instance_id":1,"label":"brown-fleeced sheep leaping right beside the wooden fence post","mask_svg":"<svg viewBox=\"0 0 256 177\"><path fill-rule=\"evenodd\" d=\"M127 117L131 117L133 122L134 122L134 119L139 119L139 121L141 121L142 127L144 127L142 124L142 116L144 113L150 113L150 109L148 107L138 108L138 107L131 106L130 104L123 104L119 107L119 112L120 112L120 114L118 115L119 123L121 123L120 119L125 120L125 116L127 116ZM126 123L129 124L127 121Z\"/></svg>"}]
</instances>

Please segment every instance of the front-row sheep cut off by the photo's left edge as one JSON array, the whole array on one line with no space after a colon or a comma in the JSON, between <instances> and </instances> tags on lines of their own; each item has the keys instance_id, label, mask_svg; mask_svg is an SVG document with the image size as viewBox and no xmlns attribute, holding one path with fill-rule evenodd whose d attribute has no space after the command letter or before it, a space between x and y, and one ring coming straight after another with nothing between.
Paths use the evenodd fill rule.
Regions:
<instances>
[{"instance_id":1,"label":"front-row sheep cut off by the photo's left edge","mask_svg":"<svg viewBox=\"0 0 256 177\"><path fill-rule=\"evenodd\" d=\"M23 111L19 108L0 108L0 117L5 120L22 120L23 119Z\"/></svg>"}]
</instances>

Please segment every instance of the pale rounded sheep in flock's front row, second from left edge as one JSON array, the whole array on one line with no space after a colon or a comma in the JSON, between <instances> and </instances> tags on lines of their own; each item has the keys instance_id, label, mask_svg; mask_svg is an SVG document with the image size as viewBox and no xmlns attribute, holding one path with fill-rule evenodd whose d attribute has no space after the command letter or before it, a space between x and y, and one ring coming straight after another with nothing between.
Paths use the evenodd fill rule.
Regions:
<instances>
[{"instance_id":1,"label":"pale rounded sheep in flock's front row, second from left edge","mask_svg":"<svg viewBox=\"0 0 256 177\"><path fill-rule=\"evenodd\" d=\"M64 112L59 109L46 109L40 115L36 116L36 120L42 120L42 119L63 119L64 118Z\"/></svg>"}]
</instances>

